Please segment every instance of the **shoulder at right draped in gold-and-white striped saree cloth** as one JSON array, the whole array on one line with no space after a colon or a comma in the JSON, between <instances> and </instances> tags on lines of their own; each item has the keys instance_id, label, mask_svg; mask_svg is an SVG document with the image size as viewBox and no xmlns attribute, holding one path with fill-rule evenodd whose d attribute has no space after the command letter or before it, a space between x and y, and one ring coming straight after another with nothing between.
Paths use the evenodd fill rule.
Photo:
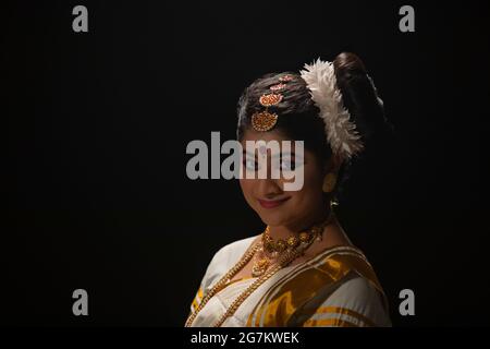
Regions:
<instances>
[{"instance_id":1,"label":"shoulder at right draped in gold-and-white striped saree cloth","mask_svg":"<svg viewBox=\"0 0 490 349\"><path fill-rule=\"evenodd\" d=\"M260 315L250 324L390 325L388 304L376 273L364 253L353 246L328 249L298 265L275 282L269 294L257 306L255 313ZM357 316L357 322L353 316Z\"/></svg>"}]
</instances>

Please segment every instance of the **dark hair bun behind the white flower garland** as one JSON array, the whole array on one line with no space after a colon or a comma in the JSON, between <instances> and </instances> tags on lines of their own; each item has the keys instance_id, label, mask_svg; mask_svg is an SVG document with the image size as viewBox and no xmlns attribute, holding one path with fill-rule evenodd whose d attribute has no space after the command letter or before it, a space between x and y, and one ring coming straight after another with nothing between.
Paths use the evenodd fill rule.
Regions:
<instances>
[{"instance_id":1,"label":"dark hair bun behind the white flower garland","mask_svg":"<svg viewBox=\"0 0 490 349\"><path fill-rule=\"evenodd\" d=\"M376 139L391 131L384 116L383 103L359 57L342 52L334 59L333 68L344 106L351 113L366 148L369 148Z\"/></svg>"}]
</instances>

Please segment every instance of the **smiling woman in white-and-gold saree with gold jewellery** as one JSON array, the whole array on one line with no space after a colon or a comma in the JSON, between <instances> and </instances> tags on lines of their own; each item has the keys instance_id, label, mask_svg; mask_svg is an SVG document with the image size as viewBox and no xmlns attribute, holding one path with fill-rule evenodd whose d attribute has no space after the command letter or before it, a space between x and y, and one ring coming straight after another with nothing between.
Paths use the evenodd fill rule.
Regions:
<instances>
[{"instance_id":1,"label":"smiling woman in white-and-gold saree with gold jewellery","mask_svg":"<svg viewBox=\"0 0 490 349\"><path fill-rule=\"evenodd\" d=\"M352 160L387 124L375 85L353 53L333 63L317 60L301 74L267 74L245 89L238 141L244 148L247 141L303 141L304 156L281 153L280 166L284 172L291 164L302 168L304 185L284 191L290 179L271 178L270 169L267 178L240 180L267 227L216 253L186 326L391 325L372 267L332 209ZM258 156L244 154L244 171L259 170ZM269 149L264 156L271 163Z\"/></svg>"}]
</instances>

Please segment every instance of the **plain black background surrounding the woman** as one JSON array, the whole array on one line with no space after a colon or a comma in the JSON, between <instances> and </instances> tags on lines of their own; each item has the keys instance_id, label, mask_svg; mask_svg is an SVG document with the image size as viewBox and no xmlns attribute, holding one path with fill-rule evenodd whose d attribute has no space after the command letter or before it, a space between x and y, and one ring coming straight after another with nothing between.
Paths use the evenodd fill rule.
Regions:
<instances>
[{"instance_id":1,"label":"plain black background surrounding the woman","mask_svg":"<svg viewBox=\"0 0 490 349\"><path fill-rule=\"evenodd\" d=\"M88 8L88 33L72 9ZM416 32L399 31L412 4ZM396 130L341 221L394 325L489 324L483 1L16 1L2 11L1 323L182 326L212 254L264 228L236 181L191 181L259 75L353 51ZM2 98L2 99L3 99ZM375 154L376 155L376 154ZM89 316L72 314L72 292ZM399 315L399 292L416 315Z\"/></svg>"}]
</instances>

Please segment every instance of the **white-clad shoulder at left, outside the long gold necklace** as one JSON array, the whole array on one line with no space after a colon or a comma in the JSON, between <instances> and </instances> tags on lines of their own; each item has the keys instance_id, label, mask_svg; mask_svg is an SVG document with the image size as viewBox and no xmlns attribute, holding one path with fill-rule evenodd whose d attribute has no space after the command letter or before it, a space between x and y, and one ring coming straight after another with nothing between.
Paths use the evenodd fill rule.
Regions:
<instances>
[{"instance_id":1,"label":"white-clad shoulder at left, outside the long gold necklace","mask_svg":"<svg viewBox=\"0 0 490 349\"><path fill-rule=\"evenodd\" d=\"M215 253L203 278L201 287L205 292L238 262L255 239L256 237L250 237L231 242Z\"/></svg>"}]
</instances>

